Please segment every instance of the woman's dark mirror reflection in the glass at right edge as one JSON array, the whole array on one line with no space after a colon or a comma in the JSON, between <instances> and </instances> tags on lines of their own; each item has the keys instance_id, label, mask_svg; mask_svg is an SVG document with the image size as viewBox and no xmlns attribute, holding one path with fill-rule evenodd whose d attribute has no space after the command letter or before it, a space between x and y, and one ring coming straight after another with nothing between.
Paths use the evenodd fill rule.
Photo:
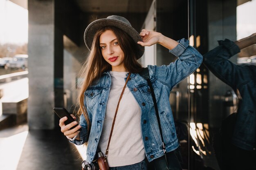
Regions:
<instances>
[{"instance_id":1,"label":"woman's dark mirror reflection in the glass at right edge","mask_svg":"<svg viewBox=\"0 0 256 170\"><path fill-rule=\"evenodd\" d=\"M240 49L256 44L256 33L235 42L225 39L218 43L219 46L204 55L204 64L233 91L227 91L223 97L225 108L229 108L224 114L229 114L225 115L220 132L213 138L216 157L223 170L256 169L256 66L229 61ZM236 96L239 101L237 113L234 113Z\"/></svg>"}]
</instances>

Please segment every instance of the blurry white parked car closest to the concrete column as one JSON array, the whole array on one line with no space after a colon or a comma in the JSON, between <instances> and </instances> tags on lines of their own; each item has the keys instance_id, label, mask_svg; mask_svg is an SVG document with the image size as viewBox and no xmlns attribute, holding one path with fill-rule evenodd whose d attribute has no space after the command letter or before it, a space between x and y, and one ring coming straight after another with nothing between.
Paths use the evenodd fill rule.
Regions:
<instances>
[{"instance_id":1,"label":"blurry white parked car closest to the concrete column","mask_svg":"<svg viewBox=\"0 0 256 170\"><path fill-rule=\"evenodd\" d=\"M27 68L27 58L28 55L25 54L15 55L13 60L9 62L9 68Z\"/></svg>"}]
</instances>

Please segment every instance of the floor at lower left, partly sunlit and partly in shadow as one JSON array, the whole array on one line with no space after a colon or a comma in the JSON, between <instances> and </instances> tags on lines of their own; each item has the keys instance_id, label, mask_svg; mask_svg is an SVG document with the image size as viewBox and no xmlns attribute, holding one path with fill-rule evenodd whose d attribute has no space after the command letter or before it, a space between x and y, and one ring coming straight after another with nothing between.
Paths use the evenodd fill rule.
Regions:
<instances>
[{"instance_id":1,"label":"floor at lower left, partly sunlit and partly in shadow","mask_svg":"<svg viewBox=\"0 0 256 170\"><path fill-rule=\"evenodd\" d=\"M76 147L56 130L26 124L0 131L0 170L81 170Z\"/></svg>"}]
</instances>

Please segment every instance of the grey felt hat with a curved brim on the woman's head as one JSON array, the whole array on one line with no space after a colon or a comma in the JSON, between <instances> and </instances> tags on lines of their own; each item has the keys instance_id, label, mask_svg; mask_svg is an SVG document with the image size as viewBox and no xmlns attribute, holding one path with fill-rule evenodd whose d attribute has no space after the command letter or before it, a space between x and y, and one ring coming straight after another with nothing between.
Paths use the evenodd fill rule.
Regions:
<instances>
[{"instance_id":1,"label":"grey felt hat with a curved brim on the woman's head","mask_svg":"<svg viewBox=\"0 0 256 170\"><path fill-rule=\"evenodd\" d=\"M132 28L132 25L126 18L117 16L117 15L111 15L107 18L95 20L92 23L90 23L84 32L84 42L87 48L91 51L92 48L92 41L95 33L105 27L105 26L115 26L124 32L128 33L130 37L134 40L135 44L137 44L138 41L142 41L141 37L139 36L139 33ZM137 44L139 51L137 51L137 59L139 59L144 54L144 46L141 46Z\"/></svg>"}]
</instances>

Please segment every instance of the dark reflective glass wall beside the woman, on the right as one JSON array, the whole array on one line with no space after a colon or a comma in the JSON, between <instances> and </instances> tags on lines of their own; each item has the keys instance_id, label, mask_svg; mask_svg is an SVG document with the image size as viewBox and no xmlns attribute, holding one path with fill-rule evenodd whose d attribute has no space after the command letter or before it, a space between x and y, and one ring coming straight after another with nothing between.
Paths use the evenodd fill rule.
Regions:
<instances>
[{"instance_id":1,"label":"dark reflective glass wall beside the woman, on the right","mask_svg":"<svg viewBox=\"0 0 256 170\"><path fill-rule=\"evenodd\" d=\"M156 1L156 31L187 38L204 55L170 95L183 169L255 169L255 8L256 0ZM162 46L156 51L157 65L176 60Z\"/></svg>"}]
</instances>

